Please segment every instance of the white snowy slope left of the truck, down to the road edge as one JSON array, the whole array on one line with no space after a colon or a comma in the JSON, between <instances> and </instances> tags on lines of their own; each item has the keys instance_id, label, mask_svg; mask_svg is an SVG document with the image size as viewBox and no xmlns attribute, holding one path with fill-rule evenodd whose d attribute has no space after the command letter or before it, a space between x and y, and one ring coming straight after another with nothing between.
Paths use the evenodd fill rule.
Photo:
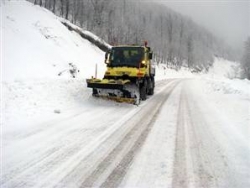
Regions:
<instances>
[{"instance_id":1,"label":"white snowy slope left of the truck, down to the road edge","mask_svg":"<svg viewBox=\"0 0 250 188\"><path fill-rule=\"evenodd\" d=\"M1 108L7 127L21 127L37 117L55 117L89 96L85 78L94 76L96 64L98 77L103 75L104 53L44 8L27 1L4 1L1 6ZM76 79L69 74L69 63L80 70Z\"/></svg>"}]
</instances>

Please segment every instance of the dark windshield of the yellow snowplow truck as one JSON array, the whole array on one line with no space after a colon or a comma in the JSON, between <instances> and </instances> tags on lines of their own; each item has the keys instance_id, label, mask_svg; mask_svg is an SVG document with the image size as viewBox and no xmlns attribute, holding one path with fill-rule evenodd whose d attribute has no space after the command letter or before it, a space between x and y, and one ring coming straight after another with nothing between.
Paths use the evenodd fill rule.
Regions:
<instances>
[{"instance_id":1,"label":"dark windshield of the yellow snowplow truck","mask_svg":"<svg viewBox=\"0 0 250 188\"><path fill-rule=\"evenodd\" d=\"M143 59L144 49L142 47L115 47L110 54L110 66L139 67Z\"/></svg>"}]
</instances>

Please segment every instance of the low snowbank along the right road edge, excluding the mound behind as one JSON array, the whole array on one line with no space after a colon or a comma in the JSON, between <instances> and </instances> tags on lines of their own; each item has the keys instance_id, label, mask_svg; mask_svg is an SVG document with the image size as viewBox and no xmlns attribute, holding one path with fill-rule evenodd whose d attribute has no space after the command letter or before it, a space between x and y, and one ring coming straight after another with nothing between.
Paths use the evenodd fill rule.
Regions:
<instances>
[{"instance_id":1,"label":"low snowbank along the right road edge, excluding the mound behind","mask_svg":"<svg viewBox=\"0 0 250 188\"><path fill-rule=\"evenodd\" d=\"M234 124L237 125L236 131L240 131L250 141L250 82L237 79L200 79L196 81L196 85L200 88L199 93L216 107L218 113L225 119L233 117Z\"/></svg>"}]
</instances>

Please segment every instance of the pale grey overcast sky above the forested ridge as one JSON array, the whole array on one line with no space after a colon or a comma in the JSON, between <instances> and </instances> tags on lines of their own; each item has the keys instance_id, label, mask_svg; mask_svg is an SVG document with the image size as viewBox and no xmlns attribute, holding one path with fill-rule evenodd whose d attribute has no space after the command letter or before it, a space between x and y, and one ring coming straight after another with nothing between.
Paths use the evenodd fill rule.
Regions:
<instances>
[{"instance_id":1,"label":"pale grey overcast sky above the forested ridge","mask_svg":"<svg viewBox=\"0 0 250 188\"><path fill-rule=\"evenodd\" d=\"M250 0L152 0L189 16L233 47L250 36Z\"/></svg>"}]
</instances>

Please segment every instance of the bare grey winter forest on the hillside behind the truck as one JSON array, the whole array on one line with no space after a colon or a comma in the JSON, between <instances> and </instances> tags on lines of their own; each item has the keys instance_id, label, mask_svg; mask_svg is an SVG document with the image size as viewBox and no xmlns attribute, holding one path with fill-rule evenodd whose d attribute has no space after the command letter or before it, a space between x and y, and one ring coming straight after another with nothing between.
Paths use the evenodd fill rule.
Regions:
<instances>
[{"instance_id":1,"label":"bare grey winter forest on the hillside behind the truck","mask_svg":"<svg viewBox=\"0 0 250 188\"><path fill-rule=\"evenodd\" d=\"M111 45L143 44L156 63L192 71L208 70L215 56L235 60L226 43L190 18L168 7L143 0L30 0Z\"/></svg>"}]
</instances>

